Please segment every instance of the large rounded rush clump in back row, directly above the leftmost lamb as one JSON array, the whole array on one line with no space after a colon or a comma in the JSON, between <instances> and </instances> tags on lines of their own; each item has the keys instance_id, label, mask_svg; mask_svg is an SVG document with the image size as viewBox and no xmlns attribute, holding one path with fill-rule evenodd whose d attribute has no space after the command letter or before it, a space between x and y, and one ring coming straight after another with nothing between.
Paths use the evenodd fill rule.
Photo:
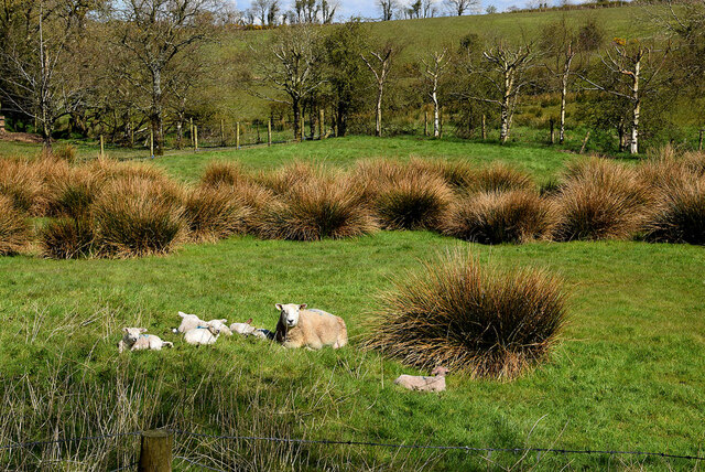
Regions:
<instances>
[{"instance_id":1,"label":"large rounded rush clump in back row, directly above the leftmost lamb","mask_svg":"<svg viewBox=\"0 0 705 472\"><path fill-rule=\"evenodd\" d=\"M93 207L101 255L171 251L185 234L180 191L173 184L127 176L110 182Z\"/></svg>"}]
</instances>

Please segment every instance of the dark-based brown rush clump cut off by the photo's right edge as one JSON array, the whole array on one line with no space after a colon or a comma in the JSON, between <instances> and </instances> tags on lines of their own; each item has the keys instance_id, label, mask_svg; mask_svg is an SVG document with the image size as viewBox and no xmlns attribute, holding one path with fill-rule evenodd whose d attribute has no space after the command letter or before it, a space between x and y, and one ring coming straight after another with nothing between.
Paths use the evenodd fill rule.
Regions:
<instances>
[{"instance_id":1,"label":"dark-based brown rush clump cut off by the photo's right edge","mask_svg":"<svg viewBox=\"0 0 705 472\"><path fill-rule=\"evenodd\" d=\"M647 230L650 240L705 245L705 178L665 187Z\"/></svg>"}]
</instances>

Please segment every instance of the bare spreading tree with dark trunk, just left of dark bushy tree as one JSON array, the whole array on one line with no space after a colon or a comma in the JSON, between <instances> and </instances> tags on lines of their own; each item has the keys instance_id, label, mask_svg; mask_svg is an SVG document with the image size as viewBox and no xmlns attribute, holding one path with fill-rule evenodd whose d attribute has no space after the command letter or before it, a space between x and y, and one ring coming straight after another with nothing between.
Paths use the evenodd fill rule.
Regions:
<instances>
[{"instance_id":1,"label":"bare spreading tree with dark trunk, just left of dark bushy tree","mask_svg":"<svg viewBox=\"0 0 705 472\"><path fill-rule=\"evenodd\" d=\"M254 93L288 104L294 115L294 139L302 139L301 106L325 82L318 74L321 65L319 32L308 24L281 26L269 45L271 60L260 62L262 85L281 92L286 98L272 97L267 92Z\"/></svg>"}]
</instances>

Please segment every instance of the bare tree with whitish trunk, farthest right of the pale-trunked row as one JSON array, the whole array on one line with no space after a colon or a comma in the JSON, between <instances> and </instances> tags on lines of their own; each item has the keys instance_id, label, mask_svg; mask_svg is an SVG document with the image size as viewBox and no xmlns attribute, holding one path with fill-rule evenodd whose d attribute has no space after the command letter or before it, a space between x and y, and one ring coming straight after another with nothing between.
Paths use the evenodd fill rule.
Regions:
<instances>
[{"instance_id":1,"label":"bare tree with whitish trunk, farthest right of the pale-trunked row","mask_svg":"<svg viewBox=\"0 0 705 472\"><path fill-rule=\"evenodd\" d=\"M642 41L616 37L601 55L601 63L612 76L609 83L598 83L585 75L588 89L601 90L626 99L631 108L631 137L629 152L639 153L639 121L644 94L658 89L657 77L663 71L670 47L658 50Z\"/></svg>"}]
</instances>

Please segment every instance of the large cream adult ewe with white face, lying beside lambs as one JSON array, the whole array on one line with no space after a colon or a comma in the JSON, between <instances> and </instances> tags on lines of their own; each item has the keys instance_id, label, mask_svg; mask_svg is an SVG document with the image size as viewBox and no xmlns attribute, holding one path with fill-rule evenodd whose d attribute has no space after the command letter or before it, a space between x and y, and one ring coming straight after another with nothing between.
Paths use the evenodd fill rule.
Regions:
<instances>
[{"instance_id":1,"label":"large cream adult ewe with white face, lying beside lambs","mask_svg":"<svg viewBox=\"0 0 705 472\"><path fill-rule=\"evenodd\" d=\"M274 335L284 347L333 346L337 350L348 343L348 331L340 317L323 310L306 310L306 303L276 303L275 307L280 317Z\"/></svg>"}]
</instances>

